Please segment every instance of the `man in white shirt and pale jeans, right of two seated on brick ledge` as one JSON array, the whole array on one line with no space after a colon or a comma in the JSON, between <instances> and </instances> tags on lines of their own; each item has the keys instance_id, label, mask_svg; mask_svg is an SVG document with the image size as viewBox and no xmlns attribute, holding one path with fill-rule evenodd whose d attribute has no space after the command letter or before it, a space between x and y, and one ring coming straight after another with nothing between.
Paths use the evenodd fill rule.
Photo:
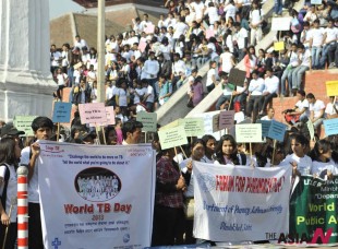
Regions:
<instances>
[{"instance_id":1,"label":"man in white shirt and pale jeans, right of two seated on brick ledge","mask_svg":"<svg viewBox=\"0 0 338 249\"><path fill-rule=\"evenodd\" d=\"M302 78L304 73L311 69L311 52L305 49L303 44L298 45L299 66L292 72L292 91L301 88Z\"/></svg>"}]
</instances>

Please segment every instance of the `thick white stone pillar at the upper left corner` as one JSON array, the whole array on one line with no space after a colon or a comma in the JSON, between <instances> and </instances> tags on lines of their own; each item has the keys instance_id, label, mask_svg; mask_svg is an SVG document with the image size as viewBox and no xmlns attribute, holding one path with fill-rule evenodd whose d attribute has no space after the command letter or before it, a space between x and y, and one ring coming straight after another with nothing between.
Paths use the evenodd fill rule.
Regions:
<instances>
[{"instance_id":1,"label":"thick white stone pillar at the upper left corner","mask_svg":"<svg viewBox=\"0 0 338 249\"><path fill-rule=\"evenodd\" d=\"M49 2L0 1L0 119L51 116Z\"/></svg>"}]
</instances>

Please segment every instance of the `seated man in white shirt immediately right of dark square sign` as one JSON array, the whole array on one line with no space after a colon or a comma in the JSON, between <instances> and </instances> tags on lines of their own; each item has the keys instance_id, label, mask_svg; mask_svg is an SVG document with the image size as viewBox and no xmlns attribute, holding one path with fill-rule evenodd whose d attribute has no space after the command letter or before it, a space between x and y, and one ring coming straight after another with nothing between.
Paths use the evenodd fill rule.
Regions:
<instances>
[{"instance_id":1,"label":"seated man in white shirt immediately right of dark square sign","mask_svg":"<svg viewBox=\"0 0 338 249\"><path fill-rule=\"evenodd\" d=\"M255 122L258 110L259 110L259 103L262 100L262 94L264 90L264 80L258 76L257 71L252 72L252 80L249 84L249 96L246 103L246 116L253 118L253 122Z\"/></svg>"}]
</instances>

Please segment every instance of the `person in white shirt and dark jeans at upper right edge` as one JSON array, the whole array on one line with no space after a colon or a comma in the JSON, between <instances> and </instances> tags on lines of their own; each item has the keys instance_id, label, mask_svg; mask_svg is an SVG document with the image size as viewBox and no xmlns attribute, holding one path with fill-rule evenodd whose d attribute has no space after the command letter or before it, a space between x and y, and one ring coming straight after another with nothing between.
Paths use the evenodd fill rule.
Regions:
<instances>
[{"instance_id":1,"label":"person in white shirt and dark jeans at upper right edge","mask_svg":"<svg viewBox=\"0 0 338 249\"><path fill-rule=\"evenodd\" d=\"M327 27L324 29L324 48L319 60L319 67L325 68L328 59L328 68L335 67L335 51L337 49L338 28L334 25L334 20L327 21Z\"/></svg>"}]
</instances>

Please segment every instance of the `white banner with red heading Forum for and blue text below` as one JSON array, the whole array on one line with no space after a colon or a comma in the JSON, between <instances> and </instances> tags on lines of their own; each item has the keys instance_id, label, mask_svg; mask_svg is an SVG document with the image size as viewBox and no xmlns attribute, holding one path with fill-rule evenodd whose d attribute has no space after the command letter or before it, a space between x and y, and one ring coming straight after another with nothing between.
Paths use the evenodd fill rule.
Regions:
<instances>
[{"instance_id":1,"label":"white banner with red heading Forum for and blue text below","mask_svg":"<svg viewBox=\"0 0 338 249\"><path fill-rule=\"evenodd\" d=\"M291 167L253 168L194 162L194 237L265 240L289 230Z\"/></svg>"}]
</instances>

